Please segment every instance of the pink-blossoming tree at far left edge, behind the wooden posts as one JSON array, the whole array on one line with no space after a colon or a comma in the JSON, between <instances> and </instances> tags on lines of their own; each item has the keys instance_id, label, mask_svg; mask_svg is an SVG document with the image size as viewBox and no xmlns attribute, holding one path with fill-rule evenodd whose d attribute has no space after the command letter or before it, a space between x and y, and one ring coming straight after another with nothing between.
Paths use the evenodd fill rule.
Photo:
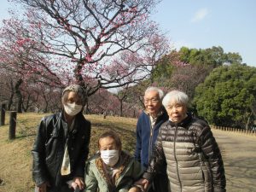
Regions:
<instances>
[{"instance_id":1,"label":"pink-blossoming tree at far left edge, behind the wooden posts","mask_svg":"<svg viewBox=\"0 0 256 192\"><path fill-rule=\"evenodd\" d=\"M23 84L45 84L62 87L67 82L68 75L64 75L61 70L56 70L57 65L42 53L34 49L38 43L35 39L29 38L29 28L20 27L22 22L12 18L4 20L4 25L0 29L0 67L9 74L9 104L11 108L15 96L18 113L27 110L29 101L25 102L22 89ZM60 64L61 61L58 61ZM25 89L26 90L26 89ZM26 97L29 99L30 97Z\"/></svg>"}]
</instances>

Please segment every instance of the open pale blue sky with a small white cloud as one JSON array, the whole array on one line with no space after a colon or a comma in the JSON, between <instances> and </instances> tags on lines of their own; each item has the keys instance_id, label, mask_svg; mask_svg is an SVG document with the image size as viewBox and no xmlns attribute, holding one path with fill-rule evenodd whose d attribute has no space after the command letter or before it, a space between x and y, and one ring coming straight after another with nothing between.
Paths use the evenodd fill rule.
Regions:
<instances>
[{"instance_id":1,"label":"open pale blue sky with a small white cloud","mask_svg":"<svg viewBox=\"0 0 256 192\"><path fill-rule=\"evenodd\" d=\"M0 20L8 17L9 7L1 0ZM152 18L174 48L221 46L256 67L255 10L255 0L162 0Z\"/></svg>"}]
</instances>

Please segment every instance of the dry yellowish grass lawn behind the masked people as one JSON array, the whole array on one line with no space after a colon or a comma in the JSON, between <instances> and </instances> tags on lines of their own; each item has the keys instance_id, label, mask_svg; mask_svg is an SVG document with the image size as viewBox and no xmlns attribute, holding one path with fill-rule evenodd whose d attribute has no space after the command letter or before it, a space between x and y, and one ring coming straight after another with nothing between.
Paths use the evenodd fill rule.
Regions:
<instances>
[{"instance_id":1,"label":"dry yellowish grass lawn behind the masked people","mask_svg":"<svg viewBox=\"0 0 256 192\"><path fill-rule=\"evenodd\" d=\"M9 113L0 126L0 192L33 191L31 149L36 127L45 113L17 114L16 139L9 141ZM97 139L104 131L113 130L121 137L123 148L134 153L137 119L85 115L92 124L90 154L97 150Z\"/></svg>"}]
</instances>

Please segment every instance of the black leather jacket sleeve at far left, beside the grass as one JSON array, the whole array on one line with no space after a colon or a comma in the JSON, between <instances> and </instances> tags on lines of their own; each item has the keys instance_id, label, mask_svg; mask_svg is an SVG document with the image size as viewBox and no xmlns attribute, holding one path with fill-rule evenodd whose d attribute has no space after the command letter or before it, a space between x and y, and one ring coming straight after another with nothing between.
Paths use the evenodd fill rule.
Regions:
<instances>
[{"instance_id":1,"label":"black leather jacket sleeve at far left, beside the grass","mask_svg":"<svg viewBox=\"0 0 256 192\"><path fill-rule=\"evenodd\" d=\"M32 148L32 178L36 185L48 181L45 166L46 120L43 118L38 125L37 137Z\"/></svg>"}]
</instances>

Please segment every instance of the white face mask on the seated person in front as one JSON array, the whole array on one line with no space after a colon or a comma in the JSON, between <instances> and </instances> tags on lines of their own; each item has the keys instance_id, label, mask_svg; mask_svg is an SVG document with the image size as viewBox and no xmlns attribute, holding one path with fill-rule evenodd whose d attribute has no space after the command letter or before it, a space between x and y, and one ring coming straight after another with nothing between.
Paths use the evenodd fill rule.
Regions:
<instances>
[{"instance_id":1,"label":"white face mask on the seated person in front","mask_svg":"<svg viewBox=\"0 0 256 192\"><path fill-rule=\"evenodd\" d=\"M101 158L107 166L114 166L119 161L119 150L101 150Z\"/></svg>"}]
</instances>

